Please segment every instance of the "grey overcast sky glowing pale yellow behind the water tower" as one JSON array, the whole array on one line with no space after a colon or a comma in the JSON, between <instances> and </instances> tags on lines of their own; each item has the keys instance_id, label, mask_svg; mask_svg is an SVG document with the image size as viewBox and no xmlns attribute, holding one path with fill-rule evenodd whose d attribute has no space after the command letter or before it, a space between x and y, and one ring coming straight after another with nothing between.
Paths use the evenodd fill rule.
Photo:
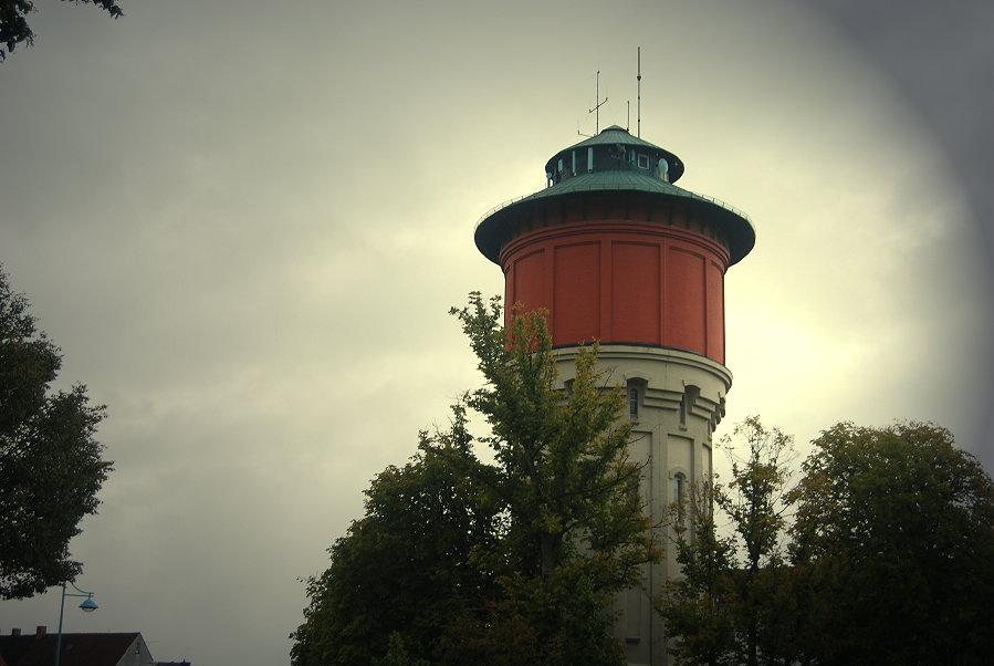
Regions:
<instances>
[{"instance_id":1,"label":"grey overcast sky glowing pale yellow behind the water tower","mask_svg":"<svg viewBox=\"0 0 994 666\"><path fill-rule=\"evenodd\" d=\"M0 64L0 262L115 461L65 631L289 662L297 577L479 385L475 222L593 134L598 69L635 131L639 45L642 138L757 230L719 434L935 420L994 468L990 3L121 3L39 0Z\"/></svg>"}]
</instances>

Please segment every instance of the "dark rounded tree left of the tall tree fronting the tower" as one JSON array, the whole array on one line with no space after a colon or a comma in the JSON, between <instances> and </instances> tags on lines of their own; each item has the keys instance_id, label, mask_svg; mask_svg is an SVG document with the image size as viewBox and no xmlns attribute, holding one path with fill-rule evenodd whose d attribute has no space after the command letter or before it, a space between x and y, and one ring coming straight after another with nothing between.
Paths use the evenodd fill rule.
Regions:
<instances>
[{"instance_id":1,"label":"dark rounded tree left of the tall tree fronting the tower","mask_svg":"<svg viewBox=\"0 0 994 666\"><path fill-rule=\"evenodd\" d=\"M366 516L307 581L305 621L291 636L295 666L416 663L453 616L490 599L493 583L472 555L494 547L500 517L470 441L457 405L449 430L421 433L410 462L374 479Z\"/></svg>"}]
</instances>

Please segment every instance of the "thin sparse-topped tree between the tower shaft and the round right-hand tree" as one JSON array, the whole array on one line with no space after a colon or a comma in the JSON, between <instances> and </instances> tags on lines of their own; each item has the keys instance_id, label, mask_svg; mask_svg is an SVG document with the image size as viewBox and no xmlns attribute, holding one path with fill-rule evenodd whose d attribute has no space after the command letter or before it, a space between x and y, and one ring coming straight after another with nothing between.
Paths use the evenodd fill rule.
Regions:
<instances>
[{"instance_id":1,"label":"thin sparse-topped tree between the tower shaft and the round right-hand tree","mask_svg":"<svg viewBox=\"0 0 994 666\"><path fill-rule=\"evenodd\" d=\"M697 489L692 527L676 523L683 577L668 583L659 605L678 638L671 652L683 664L789 663L794 605L781 544L793 439L751 416L722 446L732 457L730 482ZM732 537L716 535L715 504Z\"/></svg>"}]
</instances>

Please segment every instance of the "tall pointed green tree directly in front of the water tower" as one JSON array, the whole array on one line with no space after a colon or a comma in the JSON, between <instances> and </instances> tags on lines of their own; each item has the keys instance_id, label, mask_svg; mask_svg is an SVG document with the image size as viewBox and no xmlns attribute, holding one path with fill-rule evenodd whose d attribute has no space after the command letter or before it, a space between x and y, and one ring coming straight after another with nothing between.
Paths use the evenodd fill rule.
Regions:
<instances>
[{"instance_id":1,"label":"tall pointed green tree directly in front of the water tower","mask_svg":"<svg viewBox=\"0 0 994 666\"><path fill-rule=\"evenodd\" d=\"M486 564L547 646L543 663L621 663L607 631L614 595L658 558L632 489L624 395L598 374L596 344L577 352L564 395L541 311L514 313L504 327L500 299L472 293L452 312L485 379L469 404L490 424L493 490L509 514Z\"/></svg>"}]
</instances>

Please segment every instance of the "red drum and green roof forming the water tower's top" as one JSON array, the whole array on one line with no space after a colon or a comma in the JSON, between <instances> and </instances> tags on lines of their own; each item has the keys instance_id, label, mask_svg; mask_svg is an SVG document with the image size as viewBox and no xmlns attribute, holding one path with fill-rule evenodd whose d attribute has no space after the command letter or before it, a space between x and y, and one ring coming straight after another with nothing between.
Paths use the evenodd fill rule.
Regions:
<instances>
[{"instance_id":1,"label":"red drum and green roof forming the water tower's top","mask_svg":"<svg viewBox=\"0 0 994 666\"><path fill-rule=\"evenodd\" d=\"M613 126L556 154L550 187L499 208L477 247L509 304L545 308L553 344L669 347L724 364L724 274L755 242L745 217L671 184L671 153Z\"/></svg>"}]
</instances>

